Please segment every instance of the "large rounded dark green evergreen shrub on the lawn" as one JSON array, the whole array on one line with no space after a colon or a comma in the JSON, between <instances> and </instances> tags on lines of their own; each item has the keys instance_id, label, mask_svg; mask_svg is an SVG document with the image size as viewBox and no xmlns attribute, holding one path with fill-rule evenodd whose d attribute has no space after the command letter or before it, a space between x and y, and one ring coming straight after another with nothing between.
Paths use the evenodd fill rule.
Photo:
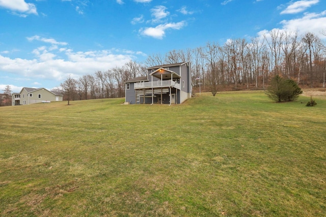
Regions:
<instances>
[{"instance_id":1,"label":"large rounded dark green evergreen shrub on the lawn","mask_svg":"<svg viewBox=\"0 0 326 217\"><path fill-rule=\"evenodd\" d=\"M302 94L302 90L292 79L276 75L271 79L265 94L276 102L294 101Z\"/></svg>"}]
</instances>

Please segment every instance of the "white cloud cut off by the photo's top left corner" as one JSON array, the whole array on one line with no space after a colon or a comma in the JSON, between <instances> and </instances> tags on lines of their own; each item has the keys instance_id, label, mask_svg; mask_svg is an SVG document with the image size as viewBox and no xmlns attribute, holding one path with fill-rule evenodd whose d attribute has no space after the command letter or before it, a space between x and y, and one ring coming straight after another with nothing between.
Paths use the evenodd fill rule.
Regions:
<instances>
[{"instance_id":1,"label":"white cloud cut off by the photo's top left corner","mask_svg":"<svg viewBox=\"0 0 326 217\"><path fill-rule=\"evenodd\" d=\"M32 3L25 3L24 0L0 0L0 7L23 13L21 14L23 17L27 16L26 14L38 15L36 6Z\"/></svg>"}]
</instances>

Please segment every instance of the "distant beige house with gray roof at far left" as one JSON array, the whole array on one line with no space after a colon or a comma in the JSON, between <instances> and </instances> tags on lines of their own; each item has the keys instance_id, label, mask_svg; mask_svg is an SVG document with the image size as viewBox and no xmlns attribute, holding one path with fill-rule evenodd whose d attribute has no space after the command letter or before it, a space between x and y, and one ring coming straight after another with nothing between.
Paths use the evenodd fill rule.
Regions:
<instances>
[{"instance_id":1,"label":"distant beige house with gray roof at far left","mask_svg":"<svg viewBox=\"0 0 326 217\"><path fill-rule=\"evenodd\" d=\"M63 95L58 91L49 91L45 88L23 87L19 93L12 94L12 105L30 105L34 103L62 101Z\"/></svg>"}]
</instances>

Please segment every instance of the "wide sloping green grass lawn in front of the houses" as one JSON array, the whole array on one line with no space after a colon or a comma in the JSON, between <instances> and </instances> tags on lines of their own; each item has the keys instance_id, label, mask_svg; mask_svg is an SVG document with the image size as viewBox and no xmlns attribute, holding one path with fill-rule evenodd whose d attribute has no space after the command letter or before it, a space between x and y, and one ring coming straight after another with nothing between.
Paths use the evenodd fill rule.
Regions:
<instances>
[{"instance_id":1,"label":"wide sloping green grass lawn in front of the houses","mask_svg":"<svg viewBox=\"0 0 326 217\"><path fill-rule=\"evenodd\" d=\"M324 216L326 99L0 107L0 216Z\"/></svg>"}]
</instances>

